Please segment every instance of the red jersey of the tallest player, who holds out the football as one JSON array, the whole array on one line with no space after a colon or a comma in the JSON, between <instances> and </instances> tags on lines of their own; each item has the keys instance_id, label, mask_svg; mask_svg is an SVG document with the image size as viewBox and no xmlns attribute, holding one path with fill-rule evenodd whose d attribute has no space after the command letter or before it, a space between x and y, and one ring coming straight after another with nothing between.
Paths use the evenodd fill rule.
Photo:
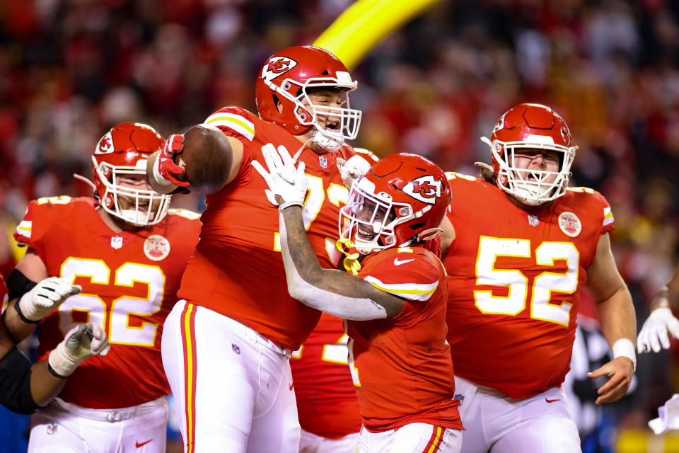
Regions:
<instances>
[{"instance_id":1,"label":"red jersey of the tallest player, who holds out the football","mask_svg":"<svg viewBox=\"0 0 679 453\"><path fill-rule=\"evenodd\" d=\"M238 176L218 193L207 196L207 210L195 257L186 268L179 296L236 319L279 346L296 350L306 340L320 311L288 294L278 233L279 213L267 199L268 185L252 166L266 168L262 146L284 145L291 155L301 142L282 127L260 120L238 107L213 113L205 124L216 126L243 143ZM349 191L342 185L340 167L354 151L344 145L318 155L304 148L309 193L303 207L311 245L324 268L335 268L340 203Z\"/></svg>"}]
</instances>

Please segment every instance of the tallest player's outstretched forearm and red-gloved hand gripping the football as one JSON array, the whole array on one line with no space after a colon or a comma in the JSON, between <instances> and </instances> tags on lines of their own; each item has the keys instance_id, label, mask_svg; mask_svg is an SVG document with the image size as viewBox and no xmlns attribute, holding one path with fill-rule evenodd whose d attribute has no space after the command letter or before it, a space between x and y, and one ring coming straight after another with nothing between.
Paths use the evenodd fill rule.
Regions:
<instances>
[{"instance_id":1,"label":"tallest player's outstretched forearm and red-gloved hand gripping the football","mask_svg":"<svg viewBox=\"0 0 679 453\"><path fill-rule=\"evenodd\" d=\"M185 134L172 134L165 147L151 155L146 177L158 193L191 190L202 195L218 192L238 174L243 144L217 127L195 125Z\"/></svg>"}]
</instances>

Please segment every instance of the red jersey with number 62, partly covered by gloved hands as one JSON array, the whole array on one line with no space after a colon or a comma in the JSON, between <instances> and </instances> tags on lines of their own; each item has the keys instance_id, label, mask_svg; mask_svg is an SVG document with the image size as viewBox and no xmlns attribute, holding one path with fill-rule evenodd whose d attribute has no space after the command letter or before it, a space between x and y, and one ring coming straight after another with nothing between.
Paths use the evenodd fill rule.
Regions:
<instances>
[{"instance_id":1,"label":"red jersey with number 62, partly covered by gloved hands","mask_svg":"<svg viewBox=\"0 0 679 453\"><path fill-rule=\"evenodd\" d=\"M14 238L35 250L47 275L83 287L40 322L38 357L44 360L77 323L100 323L111 344L108 355L89 358L71 374L59 398L104 409L168 394L161 333L198 241L198 217L168 210L159 224L115 233L92 198L30 202Z\"/></svg>"}]
</instances>

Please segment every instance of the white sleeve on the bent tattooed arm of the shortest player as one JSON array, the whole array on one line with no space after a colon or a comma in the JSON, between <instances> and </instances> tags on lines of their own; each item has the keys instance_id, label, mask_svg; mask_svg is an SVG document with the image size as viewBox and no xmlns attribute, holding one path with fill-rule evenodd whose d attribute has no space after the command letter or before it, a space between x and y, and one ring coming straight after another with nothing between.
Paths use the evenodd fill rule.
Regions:
<instances>
[{"instance_id":1,"label":"white sleeve on the bent tattooed arm of the shortest player","mask_svg":"<svg viewBox=\"0 0 679 453\"><path fill-rule=\"evenodd\" d=\"M290 256L283 214L279 214L279 226L285 276L288 280L288 292L291 297L312 308L325 311L327 314L332 314L342 319L366 321L368 319L383 319L387 317L387 311L384 307L376 304L371 299L343 296L342 294L336 294L315 287L303 280Z\"/></svg>"}]
</instances>

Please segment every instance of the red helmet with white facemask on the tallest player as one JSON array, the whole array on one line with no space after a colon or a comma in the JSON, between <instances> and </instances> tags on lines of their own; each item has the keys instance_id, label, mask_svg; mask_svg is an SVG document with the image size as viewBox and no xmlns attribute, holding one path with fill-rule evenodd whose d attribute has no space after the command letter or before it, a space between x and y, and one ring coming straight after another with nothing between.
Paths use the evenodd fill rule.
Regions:
<instances>
[{"instance_id":1,"label":"red helmet with white facemask on the tallest player","mask_svg":"<svg viewBox=\"0 0 679 453\"><path fill-rule=\"evenodd\" d=\"M313 105L308 88L343 91L342 107ZM288 47L267 59L255 84L255 101L262 120L273 122L293 135L315 127L313 140L328 151L339 149L344 139L354 139L361 111L349 108L349 91L356 89L349 71L335 55L309 45ZM279 106L277 105L280 103ZM337 120L339 129L323 129L318 115Z\"/></svg>"}]
</instances>

